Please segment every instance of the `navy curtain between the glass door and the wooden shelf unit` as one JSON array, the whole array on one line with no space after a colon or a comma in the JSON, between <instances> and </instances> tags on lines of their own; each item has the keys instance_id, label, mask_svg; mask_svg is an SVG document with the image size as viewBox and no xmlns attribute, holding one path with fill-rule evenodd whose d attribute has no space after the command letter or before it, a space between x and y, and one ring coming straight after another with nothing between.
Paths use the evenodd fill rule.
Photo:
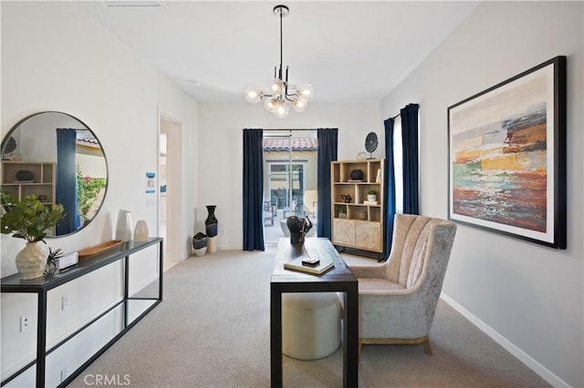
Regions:
<instances>
[{"instance_id":1,"label":"navy curtain between the glass door and the wooden shelf unit","mask_svg":"<svg viewBox=\"0 0 584 388\"><path fill-rule=\"evenodd\" d=\"M331 238L330 162L337 160L338 128L318 128L317 156L317 236Z\"/></svg>"}]
</instances>

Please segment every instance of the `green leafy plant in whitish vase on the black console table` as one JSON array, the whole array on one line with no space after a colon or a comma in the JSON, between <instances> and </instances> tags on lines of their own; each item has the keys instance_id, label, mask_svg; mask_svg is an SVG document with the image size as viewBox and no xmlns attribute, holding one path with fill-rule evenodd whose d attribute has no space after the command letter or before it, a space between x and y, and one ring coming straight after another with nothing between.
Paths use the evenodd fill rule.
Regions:
<instances>
[{"instance_id":1,"label":"green leafy plant in whitish vase on the black console table","mask_svg":"<svg viewBox=\"0 0 584 388\"><path fill-rule=\"evenodd\" d=\"M43 276L47 264L47 231L53 230L65 217L62 205L46 207L34 195L22 200L0 193L2 209L0 219L2 234L26 240L26 247L16 254L16 268L21 279Z\"/></svg>"}]
</instances>

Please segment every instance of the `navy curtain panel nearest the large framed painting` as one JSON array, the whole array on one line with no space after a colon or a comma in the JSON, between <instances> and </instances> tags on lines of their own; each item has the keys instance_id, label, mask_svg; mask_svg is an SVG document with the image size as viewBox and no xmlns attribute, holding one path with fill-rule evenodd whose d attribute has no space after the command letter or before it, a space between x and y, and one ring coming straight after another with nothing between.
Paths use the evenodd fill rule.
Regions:
<instances>
[{"instance_id":1,"label":"navy curtain panel nearest the large framed painting","mask_svg":"<svg viewBox=\"0 0 584 388\"><path fill-rule=\"evenodd\" d=\"M403 142L403 212L420 214L418 180L418 104L401 109Z\"/></svg>"}]
</instances>

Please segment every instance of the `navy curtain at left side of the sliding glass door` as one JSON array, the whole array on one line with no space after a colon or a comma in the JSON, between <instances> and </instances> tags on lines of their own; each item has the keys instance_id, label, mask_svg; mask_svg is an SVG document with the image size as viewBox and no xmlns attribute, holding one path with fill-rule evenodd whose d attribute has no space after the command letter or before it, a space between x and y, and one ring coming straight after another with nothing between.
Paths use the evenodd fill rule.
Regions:
<instances>
[{"instance_id":1,"label":"navy curtain at left side of the sliding glass door","mask_svg":"<svg viewBox=\"0 0 584 388\"><path fill-rule=\"evenodd\" d=\"M263 139L262 129L244 129L244 250L265 250Z\"/></svg>"}]
</instances>

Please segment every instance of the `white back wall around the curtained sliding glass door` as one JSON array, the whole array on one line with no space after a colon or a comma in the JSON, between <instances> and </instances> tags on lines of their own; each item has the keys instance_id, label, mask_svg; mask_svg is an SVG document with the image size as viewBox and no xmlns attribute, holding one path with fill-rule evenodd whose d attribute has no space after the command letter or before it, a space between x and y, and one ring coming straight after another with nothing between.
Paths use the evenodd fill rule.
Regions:
<instances>
[{"instance_id":1,"label":"white back wall around the curtained sliding glass door","mask_svg":"<svg viewBox=\"0 0 584 388\"><path fill-rule=\"evenodd\" d=\"M217 205L220 250L243 248L244 128L339 128L339 159L354 159L365 151L367 133L377 132L381 138L382 127L378 102L311 103L304 112L290 112L284 119L268 113L262 104L200 104L199 117L201 200L194 232L204 232L205 205ZM382 152L378 148L373 157L381 158Z\"/></svg>"}]
</instances>

